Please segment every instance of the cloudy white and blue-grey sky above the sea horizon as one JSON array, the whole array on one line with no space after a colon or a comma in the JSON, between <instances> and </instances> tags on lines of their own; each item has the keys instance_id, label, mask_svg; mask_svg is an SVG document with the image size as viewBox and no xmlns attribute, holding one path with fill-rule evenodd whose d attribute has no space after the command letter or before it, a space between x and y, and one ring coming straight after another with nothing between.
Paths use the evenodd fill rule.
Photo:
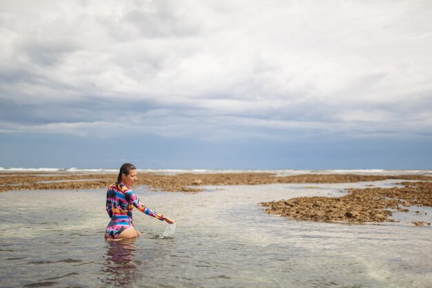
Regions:
<instances>
[{"instance_id":1,"label":"cloudy white and blue-grey sky above the sea horizon","mask_svg":"<svg viewBox=\"0 0 432 288\"><path fill-rule=\"evenodd\" d=\"M0 0L0 166L432 169L431 15Z\"/></svg>"}]
</instances>

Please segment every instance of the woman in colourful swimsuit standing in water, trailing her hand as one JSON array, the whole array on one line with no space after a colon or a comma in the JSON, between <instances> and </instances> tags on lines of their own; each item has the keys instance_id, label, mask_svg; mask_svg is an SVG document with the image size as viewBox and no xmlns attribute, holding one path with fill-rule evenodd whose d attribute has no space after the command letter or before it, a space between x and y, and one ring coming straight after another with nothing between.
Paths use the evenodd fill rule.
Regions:
<instances>
[{"instance_id":1,"label":"woman in colourful swimsuit standing in water, trailing her hand","mask_svg":"<svg viewBox=\"0 0 432 288\"><path fill-rule=\"evenodd\" d=\"M135 196L135 192L129 187L137 180L137 169L130 163L121 165L117 182L111 184L106 191L106 211L111 218L105 231L107 240L121 240L135 238L141 232L135 230L132 223L132 209L137 207L142 213L165 220L173 224L176 220L171 220L165 215L156 213L148 209Z\"/></svg>"}]
</instances>

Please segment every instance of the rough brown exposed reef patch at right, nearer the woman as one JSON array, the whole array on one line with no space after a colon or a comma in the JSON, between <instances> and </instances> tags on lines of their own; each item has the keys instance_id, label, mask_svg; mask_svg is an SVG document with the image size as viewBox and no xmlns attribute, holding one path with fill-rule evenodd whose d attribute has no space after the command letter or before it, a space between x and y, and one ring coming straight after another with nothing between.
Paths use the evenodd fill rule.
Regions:
<instances>
[{"instance_id":1,"label":"rough brown exposed reef patch at right, nearer the woman","mask_svg":"<svg viewBox=\"0 0 432 288\"><path fill-rule=\"evenodd\" d=\"M261 203L267 213L298 220L393 222L392 211L404 207L432 207L432 182L402 182L402 188L348 189L342 197L300 197ZM414 223L416 224L416 223ZM420 226L422 223L417 223ZM428 224L428 223L424 223ZM429 223L430 225L430 223Z\"/></svg>"}]
</instances>

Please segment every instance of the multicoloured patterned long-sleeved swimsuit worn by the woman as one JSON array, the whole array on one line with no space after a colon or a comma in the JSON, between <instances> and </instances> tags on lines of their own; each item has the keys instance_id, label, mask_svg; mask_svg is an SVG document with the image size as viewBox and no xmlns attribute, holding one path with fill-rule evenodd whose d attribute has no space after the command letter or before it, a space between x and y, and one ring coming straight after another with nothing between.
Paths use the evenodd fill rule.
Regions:
<instances>
[{"instance_id":1,"label":"multicoloured patterned long-sleeved swimsuit worn by the woman","mask_svg":"<svg viewBox=\"0 0 432 288\"><path fill-rule=\"evenodd\" d=\"M108 236L115 239L121 232L133 227L133 207L137 207L139 211L149 216L164 220L164 215L148 209L126 184L117 182L111 184L106 191L106 211L111 218L106 227Z\"/></svg>"}]
</instances>

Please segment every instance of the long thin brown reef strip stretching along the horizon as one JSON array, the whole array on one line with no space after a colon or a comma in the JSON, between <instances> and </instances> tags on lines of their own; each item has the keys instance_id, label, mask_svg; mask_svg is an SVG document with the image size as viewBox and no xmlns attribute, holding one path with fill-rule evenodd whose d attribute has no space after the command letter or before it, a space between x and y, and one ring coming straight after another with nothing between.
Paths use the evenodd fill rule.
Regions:
<instances>
[{"instance_id":1,"label":"long thin brown reef strip stretching along the horizon","mask_svg":"<svg viewBox=\"0 0 432 288\"><path fill-rule=\"evenodd\" d=\"M46 189L99 189L115 182L111 173L1 173L0 191ZM386 179L432 180L424 175L354 175L304 174L276 177L272 173L183 173L159 175L139 173L135 186L147 185L163 191L199 192L200 185L256 185L274 183L350 183Z\"/></svg>"}]
</instances>

